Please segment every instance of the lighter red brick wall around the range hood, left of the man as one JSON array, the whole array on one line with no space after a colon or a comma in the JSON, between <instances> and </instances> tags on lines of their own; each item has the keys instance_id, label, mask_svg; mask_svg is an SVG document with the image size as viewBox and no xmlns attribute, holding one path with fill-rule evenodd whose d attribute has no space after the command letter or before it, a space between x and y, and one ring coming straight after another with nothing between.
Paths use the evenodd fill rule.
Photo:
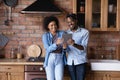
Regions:
<instances>
[{"instance_id":1,"label":"lighter red brick wall around the range hood, left of the man","mask_svg":"<svg viewBox=\"0 0 120 80\"><path fill-rule=\"evenodd\" d=\"M14 47L17 50L18 45L22 47L22 53L26 56L26 51L29 45L38 44L42 48L42 56L45 51L41 42L41 35L44 33L42 29L42 20L45 16L41 14L21 14L20 11L33 3L36 0L18 0L18 4L12 8L12 20L9 21L9 26L5 25L7 16L6 11L9 11L8 6L3 2L0 3L0 33L9 37L9 42L1 54L9 58L10 50ZM54 0L58 7L65 12L72 12L72 0ZM69 5L69 6L68 6ZM60 21L60 29L65 29L65 14L56 15Z\"/></svg>"}]
</instances>

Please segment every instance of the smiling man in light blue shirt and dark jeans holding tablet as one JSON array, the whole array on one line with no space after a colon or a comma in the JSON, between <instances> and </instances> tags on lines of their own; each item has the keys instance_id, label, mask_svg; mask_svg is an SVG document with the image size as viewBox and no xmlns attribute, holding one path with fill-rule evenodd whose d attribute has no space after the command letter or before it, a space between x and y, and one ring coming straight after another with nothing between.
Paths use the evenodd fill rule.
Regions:
<instances>
[{"instance_id":1,"label":"smiling man in light blue shirt and dark jeans holding tablet","mask_svg":"<svg viewBox=\"0 0 120 80\"><path fill-rule=\"evenodd\" d=\"M68 14L66 20L69 27L66 32L72 34L72 39L67 41L68 46L66 48L70 77L71 80L85 80L89 31L77 25L76 14Z\"/></svg>"}]
</instances>

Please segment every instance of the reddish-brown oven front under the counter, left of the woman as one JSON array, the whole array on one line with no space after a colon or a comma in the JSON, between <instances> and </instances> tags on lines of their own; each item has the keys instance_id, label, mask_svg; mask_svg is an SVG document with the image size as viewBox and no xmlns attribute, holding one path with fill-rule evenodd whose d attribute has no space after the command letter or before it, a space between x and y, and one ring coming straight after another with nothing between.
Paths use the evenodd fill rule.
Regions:
<instances>
[{"instance_id":1,"label":"reddish-brown oven front under the counter, left of the woman","mask_svg":"<svg viewBox=\"0 0 120 80\"><path fill-rule=\"evenodd\" d=\"M26 65L25 80L47 80L42 65Z\"/></svg>"}]
</instances>

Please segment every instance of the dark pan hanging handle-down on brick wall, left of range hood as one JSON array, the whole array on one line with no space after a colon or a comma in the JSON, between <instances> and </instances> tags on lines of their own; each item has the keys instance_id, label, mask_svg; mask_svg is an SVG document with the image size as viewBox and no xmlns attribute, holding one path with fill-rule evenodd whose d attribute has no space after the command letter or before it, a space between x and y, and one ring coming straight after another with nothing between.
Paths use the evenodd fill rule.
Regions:
<instances>
[{"instance_id":1,"label":"dark pan hanging handle-down on brick wall, left of range hood","mask_svg":"<svg viewBox=\"0 0 120 80\"><path fill-rule=\"evenodd\" d=\"M9 8L9 21L12 21L12 7L17 5L18 0L3 0L4 4Z\"/></svg>"}]
</instances>

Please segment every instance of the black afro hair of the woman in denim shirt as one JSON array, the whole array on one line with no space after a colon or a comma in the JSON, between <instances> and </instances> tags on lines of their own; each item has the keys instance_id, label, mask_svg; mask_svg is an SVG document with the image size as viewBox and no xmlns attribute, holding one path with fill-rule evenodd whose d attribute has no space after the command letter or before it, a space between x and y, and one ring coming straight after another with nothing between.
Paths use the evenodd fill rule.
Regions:
<instances>
[{"instance_id":1,"label":"black afro hair of the woman in denim shirt","mask_svg":"<svg viewBox=\"0 0 120 80\"><path fill-rule=\"evenodd\" d=\"M52 21L55 21L56 22L56 25L57 25L57 28L59 28L59 20L57 19L57 17L51 15L51 16L46 16L43 20L43 28L46 30L46 31L49 31L49 28L48 28L48 25L50 22Z\"/></svg>"}]
</instances>

